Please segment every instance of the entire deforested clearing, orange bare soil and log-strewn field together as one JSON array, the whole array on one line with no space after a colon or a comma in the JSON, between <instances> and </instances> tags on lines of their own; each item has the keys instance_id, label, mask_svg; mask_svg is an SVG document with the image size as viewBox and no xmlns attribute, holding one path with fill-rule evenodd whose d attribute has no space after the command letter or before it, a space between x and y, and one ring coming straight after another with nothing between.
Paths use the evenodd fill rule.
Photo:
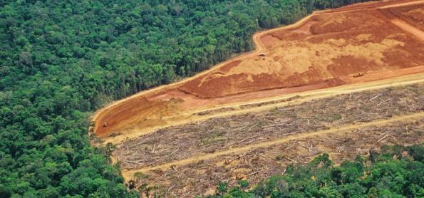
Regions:
<instances>
[{"instance_id":1,"label":"entire deforested clearing, orange bare soil and log-strewn field together","mask_svg":"<svg viewBox=\"0 0 424 198\"><path fill-rule=\"evenodd\" d=\"M166 197L423 142L423 6L355 4L256 33L252 53L99 110L92 142Z\"/></svg>"}]
</instances>

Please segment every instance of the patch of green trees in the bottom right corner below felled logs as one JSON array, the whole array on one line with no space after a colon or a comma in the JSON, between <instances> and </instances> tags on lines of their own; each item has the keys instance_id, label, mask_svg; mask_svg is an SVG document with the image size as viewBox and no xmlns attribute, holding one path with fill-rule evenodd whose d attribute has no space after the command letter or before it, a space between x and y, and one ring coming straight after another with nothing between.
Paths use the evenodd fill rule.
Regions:
<instances>
[{"instance_id":1,"label":"patch of green trees in the bottom right corner below felled logs","mask_svg":"<svg viewBox=\"0 0 424 198\"><path fill-rule=\"evenodd\" d=\"M302 166L291 166L251 190L247 181L228 189L217 187L212 197L424 197L424 146L384 146L335 167L329 155Z\"/></svg>"}]
</instances>

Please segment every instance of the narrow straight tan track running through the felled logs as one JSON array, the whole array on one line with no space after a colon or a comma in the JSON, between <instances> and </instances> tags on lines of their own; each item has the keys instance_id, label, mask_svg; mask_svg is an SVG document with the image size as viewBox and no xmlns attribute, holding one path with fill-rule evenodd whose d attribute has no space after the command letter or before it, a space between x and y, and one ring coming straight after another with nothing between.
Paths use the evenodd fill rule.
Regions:
<instances>
[{"instance_id":1,"label":"narrow straight tan track running through the felled logs","mask_svg":"<svg viewBox=\"0 0 424 198\"><path fill-rule=\"evenodd\" d=\"M318 131L314 131L314 132L305 132L299 135L292 135L289 137L283 137L277 140L272 140L272 141L268 141L268 142L259 142L259 143L255 143L252 145L247 145L244 147L234 147L234 148L229 148L227 150L222 150L219 152L214 152L214 153L210 153L210 154L203 154L203 155L197 155L195 157L190 157L184 160L177 160L174 162L168 162L162 165L156 165L156 166L152 166L152 167L143 167L137 170L122 170L123 172L123 177L126 180L129 180L133 177L133 175L135 174L135 172L149 172L152 170L157 170L157 169L161 169L161 170L167 170L170 169L174 166L181 166L181 165L187 165L187 164L191 164L191 163L195 163L195 162L199 162L201 160L209 160L212 159L214 157L219 157L221 155L228 155L228 154L232 154L232 153L241 153L241 152L247 152L248 150L254 149L254 148L259 148L259 147L270 147L272 145L279 145L282 144L284 142L289 142L291 140L300 140L300 139L304 139L306 137L313 137L313 136L320 136L320 135L329 135L331 133L341 133L341 132L348 132L349 130L355 130L358 128L362 128L362 127L368 127L368 126L376 126L376 125L387 125L389 123L394 123L394 122L414 122L415 119L417 118L423 118L424 117L424 112L420 112L420 113L414 113L411 115L402 115L402 116L398 116L398 117L394 117L388 120L377 120L377 121L372 121L372 122L368 122L368 123L361 123L361 124L356 124L356 125L344 125L341 127L332 127L328 130L318 130Z\"/></svg>"}]
</instances>

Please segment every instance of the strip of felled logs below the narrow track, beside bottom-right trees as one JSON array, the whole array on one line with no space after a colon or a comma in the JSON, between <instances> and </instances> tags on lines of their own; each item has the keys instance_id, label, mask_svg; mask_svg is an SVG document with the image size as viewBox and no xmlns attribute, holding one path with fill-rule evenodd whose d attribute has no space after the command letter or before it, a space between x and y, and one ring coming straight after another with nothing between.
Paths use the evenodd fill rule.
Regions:
<instances>
[{"instance_id":1,"label":"strip of felled logs below the narrow track, beside bottom-right trees","mask_svg":"<svg viewBox=\"0 0 424 198\"><path fill-rule=\"evenodd\" d=\"M150 184L167 197L192 197L214 192L218 182L230 186L239 179L256 184L264 177L284 174L287 165L310 162L321 153L329 153L336 164L368 155L381 145L410 145L423 142L424 118L385 126L370 126L359 130L341 131L302 140L249 150L241 154L223 155L195 164L173 166L169 170L145 172L148 177L135 177L135 183ZM141 174L141 173L140 173Z\"/></svg>"}]
</instances>

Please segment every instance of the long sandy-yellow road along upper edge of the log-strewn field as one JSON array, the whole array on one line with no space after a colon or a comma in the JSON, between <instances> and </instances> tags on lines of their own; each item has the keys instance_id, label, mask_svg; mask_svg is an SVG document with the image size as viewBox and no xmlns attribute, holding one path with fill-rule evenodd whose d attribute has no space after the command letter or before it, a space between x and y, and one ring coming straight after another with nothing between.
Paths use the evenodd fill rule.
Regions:
<instances>
[{"instance_id":1,"label":"long sandy-yellow road along upper edge of the log-strewn field","mask_svg":"<svg viewBox=\"0 0 424 198\"><path fill-rule=\"evenodd\" d=\"M395 74L395 73L393 73ZM254 113L264 110L270 110L272 108L279 108L284 106L296 105L311 100L317 100L321 98L329 98L334 95L356 93L366 90L376 90L381 88L396 87L402 85L411 85L414 83L423 83L424 73L418 73L413 75L404 75L390 80L376 80L368 83L341 85L333 88L325 88L321 90L305 90L301 93L284 93L278 92L279 90L268 90L259 93L249 93L244 95L245 97L254 98L257 95L267 96L281 93L281 96L264 98L259 100L250 100L248 103L230 103L227 105L219 105L214 108L199 108L195 110L187 110L185 113L179 113L175 116L163 117L168 123L162 123L152 127L144 127L143 130L131 130L125 135L112 135L109 137L103 137L102 142L112 143L113 145L119 145L126 140L132 140L136 137L148 135L162 128L171 127L175 125L183 125L186 123L195 123L210 118L220 118L224 116L239 115L242 113ZM219 98L221 99L221 98ZM234 98L236 100L237 98ZM244 108L249 107L249 108Z\"/></svg>"}]
</instances>

